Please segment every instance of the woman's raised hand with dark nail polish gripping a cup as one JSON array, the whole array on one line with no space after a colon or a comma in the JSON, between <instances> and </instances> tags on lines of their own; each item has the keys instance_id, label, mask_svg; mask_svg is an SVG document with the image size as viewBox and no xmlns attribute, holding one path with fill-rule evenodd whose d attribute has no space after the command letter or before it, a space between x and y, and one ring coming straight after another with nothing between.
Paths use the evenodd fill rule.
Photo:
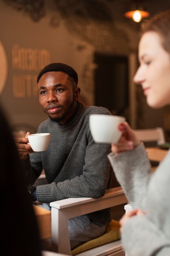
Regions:
<instances>
[{"instance_id":1,"label":"woman's raised hand with dark nail polish gripping a cup","mask_svg":"<svg viewBox=\"0 0 170 256\"><path fill-rule=\"evenodd\" d=\"M117 154L132 150L141 143L127 122L120 124L118 128L123 133L119 141L116 144L112 144L111 150L113 153Z\"/></svg>"}]
</instances>

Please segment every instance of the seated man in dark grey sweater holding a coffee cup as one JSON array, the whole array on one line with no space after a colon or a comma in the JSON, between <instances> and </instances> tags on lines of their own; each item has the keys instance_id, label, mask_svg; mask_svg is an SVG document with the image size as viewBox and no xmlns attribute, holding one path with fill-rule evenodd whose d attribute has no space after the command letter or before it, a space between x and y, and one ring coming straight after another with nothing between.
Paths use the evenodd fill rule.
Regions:
<instances>
[{"instance_id":1,"label":"seated man in dark grey sweater holding a coffee cup","mask_svg":"<svg viewBox=\"0 0 170 256\"><path fill-rule=\"evenodd\" d=\"M33 184L44 169L49 183L37 186L35 200L50 203L65 198L103 196L110 182L107 158L110 145L93 141L89 115L110 115L110 112L78 101L78 76L68 65L47 65L40 71L37 82L40 105L49 116L40 124L38 133L51 133L49 148L33 153L27 144L29 132L25 138L16 139L26 180ZM29 156L30 153L33 154ZM101 236L108 222L108 209L68 220L71 249Z\"/></svg>"}]
</instances>

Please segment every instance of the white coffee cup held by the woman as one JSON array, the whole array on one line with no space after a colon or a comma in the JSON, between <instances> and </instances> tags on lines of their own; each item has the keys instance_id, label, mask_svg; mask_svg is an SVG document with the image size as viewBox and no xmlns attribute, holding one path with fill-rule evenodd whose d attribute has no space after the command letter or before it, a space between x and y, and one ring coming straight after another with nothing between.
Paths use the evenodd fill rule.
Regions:
<instances>
[{"instance_id":1,"label":"white coffee cup held by the woman","mask_svg":"<svg viewBox=\"0 0 170 256\"><path fill-rule=\"evenodd\" d=\"M90 115L89 125L94 141L109 144L117 143L122 134L118 126L125 120L125 117L113 115Z\"/></svg>"}]
</instances>

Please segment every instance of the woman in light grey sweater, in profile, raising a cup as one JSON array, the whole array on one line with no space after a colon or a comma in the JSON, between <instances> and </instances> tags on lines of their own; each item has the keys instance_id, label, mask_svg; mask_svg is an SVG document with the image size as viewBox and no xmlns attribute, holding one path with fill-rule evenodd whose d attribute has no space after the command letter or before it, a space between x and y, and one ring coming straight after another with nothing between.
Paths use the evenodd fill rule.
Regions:
<instances>
[{"instance_id":1,"label":"woman in light grey sweater, in profile, raising a cup","mask_svg":"<svg viewBox=\"0 0 170 256\"><path fill-rule=\"evenodd\" d=\"M153 17L139 42L140 66L134 82L141 84L152 108L170 104L170 10ZM127 123L108 155L132 210L120 220L128 256L170 256L170 151L151 175L144 145Z\"/></svg>"}]
</instances>

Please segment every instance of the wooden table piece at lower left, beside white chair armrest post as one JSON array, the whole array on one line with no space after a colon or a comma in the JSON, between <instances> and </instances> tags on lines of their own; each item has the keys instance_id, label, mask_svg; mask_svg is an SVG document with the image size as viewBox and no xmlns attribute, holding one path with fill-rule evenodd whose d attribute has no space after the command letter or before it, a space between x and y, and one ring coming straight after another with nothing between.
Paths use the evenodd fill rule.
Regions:
<instances>
[{"instance_id":1,"label":"wooden table piece at lower left, beside white chair armrest post","mask_svg":"<svg viewBox=\"0 0 170 256\"><path fill-rule=\"evenodd\" d=\"M51 211L33 204L35 216L37 218L40 238L46 239L51 237Z\"/></svg>"}]
</instances>

